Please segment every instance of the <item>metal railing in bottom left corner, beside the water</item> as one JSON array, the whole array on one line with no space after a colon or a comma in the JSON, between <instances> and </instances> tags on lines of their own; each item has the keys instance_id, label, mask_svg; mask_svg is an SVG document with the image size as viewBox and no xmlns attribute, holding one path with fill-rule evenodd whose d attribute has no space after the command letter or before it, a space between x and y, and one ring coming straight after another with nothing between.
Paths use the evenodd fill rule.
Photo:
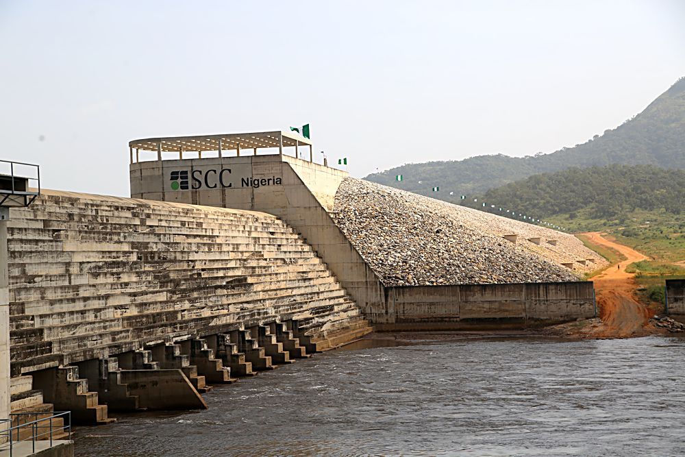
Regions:
<instances>
[{"instance_id":1,"label":"metal railing in bottom left corner, beside the water","mask_svg":"<svg viewBox=\"0 0 685 457\"><path fill-rule=\"evenodd\" d=\"M39 417L49 414L49 417ZM28 421L20 423L22 417L31 417L35 419L33 421ZM62 426L53 425L53 421L58 418L62 418ZM8 423L8 424L7 424ZM16 423L16 425L12 425ZM10 428L5 429L5 424L10 425ZM41 425L42 424L42 425ZM18 443L24 441L31 441L32 453L36 452L36 441L49 441L49 447L53 446L53 437L62 436L67 434L69 440L71 440L71 411L60 411L60 412L12 412L10 414L10 419L0 419L0 428L4 429L0 431L0 438L2 439L2 444L0 444L0 452L10 451L10 457L12 457L12 451ZM30 436L24 436L22 438L21 434L23 430L30 430Z\"/></svg>"}]
</instances>

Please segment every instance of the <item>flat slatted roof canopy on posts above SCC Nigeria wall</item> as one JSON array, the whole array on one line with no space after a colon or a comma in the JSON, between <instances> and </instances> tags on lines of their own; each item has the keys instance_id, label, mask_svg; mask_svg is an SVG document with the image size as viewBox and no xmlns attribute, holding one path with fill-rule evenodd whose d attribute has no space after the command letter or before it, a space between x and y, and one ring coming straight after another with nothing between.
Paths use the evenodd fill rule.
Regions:
<instances>
[{"instance_id":1,"label":"flat slatted roof canopy on posts above SCC Nigeria wall","mask_svg":"<svg viewBox=\"0 0 685 457\"><path fill-rule=\"evenodd\" d=\"M221 151L223 149L258 149L266 147L312 146L312 141L297 132L255 132L198 136L168 136L129 141L140 151Z\"/></svg>"}]
</instances>

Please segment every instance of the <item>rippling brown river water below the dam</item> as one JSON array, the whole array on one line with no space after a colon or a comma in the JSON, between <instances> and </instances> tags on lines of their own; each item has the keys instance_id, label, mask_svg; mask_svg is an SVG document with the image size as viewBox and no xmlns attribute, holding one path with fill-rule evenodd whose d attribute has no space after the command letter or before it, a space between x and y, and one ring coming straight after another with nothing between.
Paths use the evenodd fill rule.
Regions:
<instances>
[{"instance_id":1,"label":"rippling brown river water below the dam","mask_svg":"<svg viewBox=\"0 0 685 457\"><path fill-rule=\"evenodd\" d=\"M215 386L208 410L76 428L76 455L682 456L683 360L656 336L329 351Z\"/></svg>"}]
</instances>

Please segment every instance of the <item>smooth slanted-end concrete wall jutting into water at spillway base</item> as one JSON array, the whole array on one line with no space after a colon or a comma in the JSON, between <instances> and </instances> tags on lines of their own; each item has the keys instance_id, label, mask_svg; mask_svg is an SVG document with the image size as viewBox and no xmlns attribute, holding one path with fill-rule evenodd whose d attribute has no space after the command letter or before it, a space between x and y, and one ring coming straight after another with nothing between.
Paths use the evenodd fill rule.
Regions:
<instances>
[{"instance_id":1,"label":"smooth slanted-end concrete wall jutting into water at spillway base","mask_svg":"<svg viewBox=\"0 0 685 457\"><path fill-rule=\"evenodd\" d=\"M122 370L121 381L151 410L207 409L207 404L180 369Z\"/></svg>"}]
</instances>

